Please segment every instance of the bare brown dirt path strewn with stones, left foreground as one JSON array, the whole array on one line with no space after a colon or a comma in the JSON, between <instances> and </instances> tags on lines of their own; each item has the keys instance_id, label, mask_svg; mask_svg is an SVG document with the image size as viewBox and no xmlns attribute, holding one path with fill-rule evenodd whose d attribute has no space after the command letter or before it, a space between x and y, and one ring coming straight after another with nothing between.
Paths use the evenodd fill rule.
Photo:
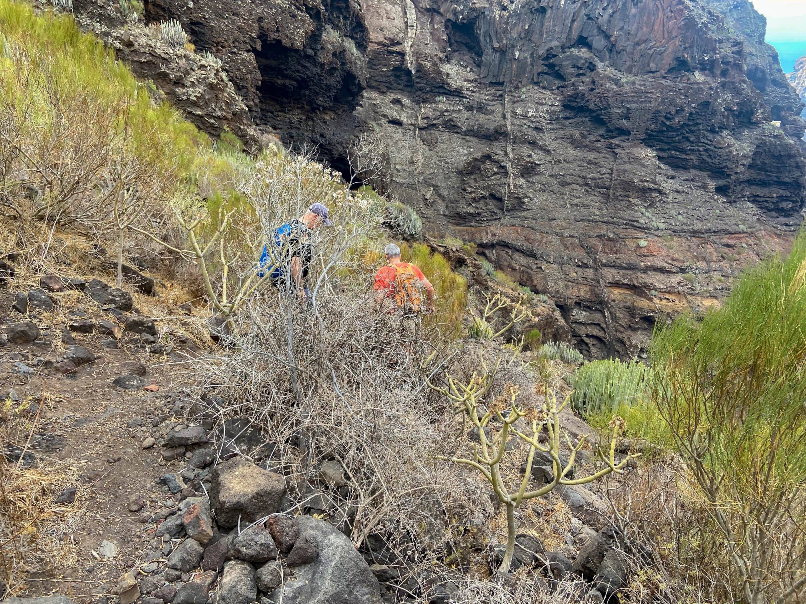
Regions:
<instances>
[{"instance_id":1,"label":"bare brown dirt path strewn with stones, left foreground","mask_svg":"<svg viewBox=\"0 0 806 604\"><path fill-rule=\"evenodd\" d=\"M96 308L88 309L87 315L93 321L112 318ZM151 541L144 523L164 509L167 496L156 490L154 481L171 472L179 461L166 463L159 446L143 449L142 445L148 437L164 435L184 416L183 403L177 402L182 395L172 390L170 363L177 356L150 354L134 333L123 332L118 350L104 348L102 341L108 336L73 333L75 344L98 358L73 374L57 374L44 368L50 365L48 360L58 362L67 348L62 342L62 325L44 325L35 316L14 313L2 317L5 325L25 319L38 324L42 336L35 342L0 349L0 395L6 400L9 396L12 400L31 397L30 415L35 415L43 391L50 395L38 418L33 418L28 449L39 462L67 461L78 470L81 485L75 505L87 510L72 531L78 544L75 566L57 571L60 577L51 573L31 577L27 595L56 592L70 595L75 602L92 602L113 594L118 577L143 563ZM158 391L113 385L118 376L131 370L142 373L143 368L144 382L155 384ZM143 496L144 506L139 511L130 511L133 495ZM109 559L99 552L104 541L118 548Z\"/></svg>"}]
</instances>

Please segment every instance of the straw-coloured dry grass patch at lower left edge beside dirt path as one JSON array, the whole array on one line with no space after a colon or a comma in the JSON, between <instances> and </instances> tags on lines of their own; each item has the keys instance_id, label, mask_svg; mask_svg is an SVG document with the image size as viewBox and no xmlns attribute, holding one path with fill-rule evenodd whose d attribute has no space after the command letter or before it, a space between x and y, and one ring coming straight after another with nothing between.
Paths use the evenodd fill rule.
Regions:
<instances>
[{"instance_id":1,"label":"straw-coloured dry grass patch at lower left edge beside dirt path","mask_svg":"<svg viewBox=\"0 0 806 604\"><path fill-rule=\"evenodd\" d=\"M23 403L0 403L2 449L30 450L39 419L34 409L52 401L45 393ZM86 489L73 465L37 457L31 467L0 457L0 590L6 590L0 596L25 594L27 577L53 576L77 565L74 534L86 513ZM56 504L67 487L77 489L75 502Z\"/></svg>"}]
</instances>

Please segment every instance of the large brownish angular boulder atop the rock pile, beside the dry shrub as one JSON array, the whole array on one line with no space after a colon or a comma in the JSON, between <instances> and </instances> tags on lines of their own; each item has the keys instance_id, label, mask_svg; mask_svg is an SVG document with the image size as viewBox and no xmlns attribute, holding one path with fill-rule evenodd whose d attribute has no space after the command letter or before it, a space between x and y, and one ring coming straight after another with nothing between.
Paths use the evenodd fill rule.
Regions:
<instances>
[{"instance_id":1,"label":"large brownish angular boulder atop the rock pile, beside the dry shrub","mask_svg":"<svg viewBox=\"0 0 806 604\"><path fill-rule=\"evenodd\" d=\"M262 470L243 457L233 457L210 472L210 501L218 524L232 528L254 522L280 507L285 478Z\"/></svg>"}]
</instances>

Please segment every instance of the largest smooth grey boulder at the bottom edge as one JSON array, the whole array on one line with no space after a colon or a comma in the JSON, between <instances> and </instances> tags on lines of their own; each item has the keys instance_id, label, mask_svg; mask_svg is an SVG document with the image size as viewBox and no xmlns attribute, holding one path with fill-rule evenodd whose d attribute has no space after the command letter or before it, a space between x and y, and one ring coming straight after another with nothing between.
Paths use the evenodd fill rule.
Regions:
<instances>
[{"instance_id":1,"label":"largest smooth grey boulder at the bottom edge","mask_svg":"<svg viewBox=\"0 0 806 604\"><path fill-rule=\"evenodd\" d=\"M319 555L294 568L295 578L269 594L283 604L380 604L380 585L351 540L329 523L297 518L300 540L310 540Z\"/></svg>"}]
</instances>

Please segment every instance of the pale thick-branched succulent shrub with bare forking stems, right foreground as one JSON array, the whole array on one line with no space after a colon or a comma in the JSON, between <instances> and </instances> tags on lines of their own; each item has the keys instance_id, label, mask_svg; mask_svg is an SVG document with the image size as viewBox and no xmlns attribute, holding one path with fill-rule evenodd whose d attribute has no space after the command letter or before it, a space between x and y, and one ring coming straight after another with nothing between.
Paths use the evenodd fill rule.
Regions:
<instances>
[{"instance_id":1,"label":"pale thick-branched succulent shrub with bare forking stems, right foreground","mask_svg":"<svg viewBox=\"0 0 806 604\"><path fill-rule=\"evenodd\" d=\"M513 362L517 357L513 354L512 357L505 362ZM495 378L498 370L501 367L501 358L496 359L496 363L492 366L492 370L488 368L487 363L484 361L484 356L480 355L481 374L472 374L471 379L466 383L457 382L451 374L445 374L445 381L447 387L435 386L429 383L429 386L449 399L457 414L463 416L463 424L465 420L469 420L471 424L478 428L480 443L473 444L472 458L467 457L437 457L443 461L452 461L457 464L470 465L484 476L487 482L492 486L493 492L496 494L498 500L506 506L507 516L507 544L504 553L504 559L497 569L499 577L504 577L509 573L509 567L512 564L513 554L515 552L515 539L517 536L515 527L515 510L521 507L521 503L529 499L541 497L554 490L558 485L582 485L588 482L593 482L598 478L602 478L612 472L621 472L623 468L634 457L638 457L640 453L627 455L616 461L616 443L618 440L619 429L621 428L620 421L614 420L613 426L613 440L610 442L609 455L605 457L605 467L595 474L590 474L584 478L568 479L566 475L571 471L574 465L576 454L584 447L585 440L588 435L580 436L579 441L575 445L571 443L567 432L563 429L561 414L568 406L571 400L571 394L567 395L563 403L557 402L557 397L554 391L550 390L548 385L544 387L546 395L543 397L542 406L538 409L526 410L517 406L517 398L519 392L516 388L511 387L509 390L509 409L505 410L502 405L493 403L487 411L480 415L480 400L488 394L492 387L493 379ZM492 432L492 437L485 433L485 429L492 428L490 421L495 418L501 425L501 428ZM521 418L530 420L530 429L528 433L521 432L515 424ZM541 444L540 440L542 435L545 434L545 444ZM501 473L501 465L505 461L507 451L507 444L513 437L517 437L522 443L528 446L529 453L526 457L526 474L521 480L517 490L510 490L505 482L505 477ZM560 460L560 445L565 443L567 448L571 451L567 463L563 464ZM551 482L541 486L538 489L528 490L530 477L532 473L532 464L534 462L535 452L546 453L551 457L553 478Z\"/></svg>"}]
</instances>

